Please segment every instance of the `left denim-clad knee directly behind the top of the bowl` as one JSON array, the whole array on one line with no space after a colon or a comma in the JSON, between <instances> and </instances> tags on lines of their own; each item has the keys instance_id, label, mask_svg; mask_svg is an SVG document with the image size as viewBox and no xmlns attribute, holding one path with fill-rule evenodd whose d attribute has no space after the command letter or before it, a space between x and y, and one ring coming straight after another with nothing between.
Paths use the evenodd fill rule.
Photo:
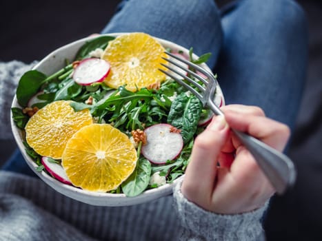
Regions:
<instances>
[{"instance_id":1,"label":"left denim-clad knee directly behind the top of the bowl","mask_svg":"<svg viewBox=\"0 0 322 241\"><path fill-rule=\"evenodd\" d=\"M213 65L221 45L221 21L214 0L123 1L102 33L145 32L167 39L196 54L212 52Z\"/></svg>"}]
</instances>

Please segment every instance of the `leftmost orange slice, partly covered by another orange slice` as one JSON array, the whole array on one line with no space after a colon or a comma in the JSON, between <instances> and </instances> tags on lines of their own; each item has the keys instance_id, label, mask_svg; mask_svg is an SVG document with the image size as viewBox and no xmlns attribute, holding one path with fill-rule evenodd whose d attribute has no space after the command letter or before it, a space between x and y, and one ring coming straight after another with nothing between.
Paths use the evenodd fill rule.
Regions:
<instances>
[{"instance_id":1,"label":"leftmost orange slice, partly covered by another orange slice","mask_svg":"<svg viewBox=\"0 0 322 241\"><path fill-rule=\"evenodd\" d=\"M70 137L92 122L88 109L75 112L70 101L54 101L30 118L26 141L39 155L60 159Z\"/></svg>"}]
</instances>

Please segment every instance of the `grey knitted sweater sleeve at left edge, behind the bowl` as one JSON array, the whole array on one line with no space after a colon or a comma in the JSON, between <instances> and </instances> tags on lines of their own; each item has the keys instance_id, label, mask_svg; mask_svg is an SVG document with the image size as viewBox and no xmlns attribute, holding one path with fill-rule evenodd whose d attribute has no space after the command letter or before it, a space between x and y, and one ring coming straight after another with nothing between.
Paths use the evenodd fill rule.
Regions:
<instances>
[{"instance_id":1,"label":"grey knitted sweater sleeve at left edge, behind the bowl","mask_svg":"<svg viewBox=\"0 0 322 241\"><path fill-rule=\"evenodd\" d=\"M34 63L21 61L0 62L0 139L11 139L10 107L19 78L30 70Z\"/></svg>"}]
</instances>

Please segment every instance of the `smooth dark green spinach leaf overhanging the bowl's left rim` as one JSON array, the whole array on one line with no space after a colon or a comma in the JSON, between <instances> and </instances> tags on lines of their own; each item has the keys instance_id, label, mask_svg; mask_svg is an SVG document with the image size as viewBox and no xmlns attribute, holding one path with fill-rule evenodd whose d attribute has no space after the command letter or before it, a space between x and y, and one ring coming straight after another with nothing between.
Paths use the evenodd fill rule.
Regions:
<instances>
[{"instance_id":1,"label":"smooth dark green spinach leaf overhanging the bowl's left rim","mask_svg":"<svg viewBox=\"0 0 322 241\"><path fill-rule=\"evenodd\" d=\"M16 92L19 105L22 107L28 105L28 101L34 94L37 94L46 77L37 70L30 70L21 76Z\"/></svg>"}]
</instances>

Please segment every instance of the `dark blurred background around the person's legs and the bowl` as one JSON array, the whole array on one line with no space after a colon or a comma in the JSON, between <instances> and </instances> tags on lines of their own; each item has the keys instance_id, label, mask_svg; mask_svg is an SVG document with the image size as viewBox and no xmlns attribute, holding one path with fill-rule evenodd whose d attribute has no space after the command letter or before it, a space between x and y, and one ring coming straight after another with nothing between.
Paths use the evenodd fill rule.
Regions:
<instances>
[{"instance_id":1,"label":"dark blurred background around the person's legs and the bowl","mask_svg":"<svg viewBox=\"0 0 322 241\"><path fill-rule=\"evenodd\" d=\"M1 1L0 61L30 63L100 32L118 2ZM225 2L217 1L219 6ZM292 190L272 199L265 221L268 240L322 240L322 3L298 2L307 12L310 32L307 82L289 153L298 179ZM1 165L15 144L1 140L0 147Z\"/></svg>"}]
</instances>

